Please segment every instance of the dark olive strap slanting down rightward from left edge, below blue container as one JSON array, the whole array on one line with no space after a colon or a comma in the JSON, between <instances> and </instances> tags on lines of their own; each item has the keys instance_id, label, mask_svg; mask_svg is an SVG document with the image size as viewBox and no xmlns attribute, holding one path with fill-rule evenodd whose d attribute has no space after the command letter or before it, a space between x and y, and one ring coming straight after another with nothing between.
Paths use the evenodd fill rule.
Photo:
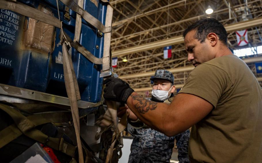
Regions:
<instances>
[{"instance_id":1,"label":"dark olive strap slanting down rightward from left edge, below blue container","mask_svg":"<svg viewBox=\"0 0 262 163\"><path fill-rule=\"evenodd\" d=\"M51 148L54 148L55 150L59 150L71 157L75 157L75 147L67 142L64 141L63 138L53 138L48 137L41 131L35 129L36 124L34 124L30 119L22 115L20 112L15 110L14 108L10 106L6 106L3 104L0 104L0 109L6 112L12 119L14 120L16 126L19 128L19 130L16 130L15 128L9 128L14 129L10 130L10 132L16 133L21 132L27 137L30 137L31 139L34 139L40 143L46 144ZM5 131L6 132L6 131ZM2 133L2 132L1 132ZM1 138L1 142L3 139Z\"/></svg>"}]
</instances>

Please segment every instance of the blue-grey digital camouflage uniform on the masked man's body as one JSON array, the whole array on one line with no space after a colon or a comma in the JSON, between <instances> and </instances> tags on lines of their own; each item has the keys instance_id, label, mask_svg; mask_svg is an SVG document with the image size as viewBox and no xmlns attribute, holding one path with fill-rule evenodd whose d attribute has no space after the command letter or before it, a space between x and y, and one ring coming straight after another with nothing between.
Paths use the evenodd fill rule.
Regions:
<instances>
[{"instance_id":1,"label":"blue-grey digital camouflage uniform on the masked man's body","mask_svg":"<svg viewBox=\"0 0 262 163\"><path fill-rule=\"evenodd\" d=\"M128 163L170 162L175 139L179 162L190 162L188 157L189 130L172 137L151 128L136 128L129 123L127 130L134 136Z\"/></svg>"}]
</instances>

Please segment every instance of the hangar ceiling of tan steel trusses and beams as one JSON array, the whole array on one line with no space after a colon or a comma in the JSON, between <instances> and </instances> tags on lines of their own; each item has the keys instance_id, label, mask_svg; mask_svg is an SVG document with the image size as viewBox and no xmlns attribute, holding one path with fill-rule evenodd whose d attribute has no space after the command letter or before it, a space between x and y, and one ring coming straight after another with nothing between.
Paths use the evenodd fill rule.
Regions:
<instances>
[{"instance_id":1,"label":"hangar ceiling of tan steel trusses and beams","mask_svg":"<svg viewBox=\"0 0 262 163\"><path fill-rule=\"evenodd\" d=\"M228 46L233 50L262 42L261 0L111 0L111 4L111 50L112 57L118 57L114 71L142 95L151 87L149 78L156 69L172 70L175 85L183 86L192 67L181 36L189 24L201 18L219 20L226 27ZM214 10L210 15L205 13L208 5ZM244 29L248 29L250 44L240 47L235 31ZM163 58L164 46L172 46L169 59ZM128 62L122 61L124 57ZM254 62L248 65L255 73Z\"/></svg>"}]
</instances>

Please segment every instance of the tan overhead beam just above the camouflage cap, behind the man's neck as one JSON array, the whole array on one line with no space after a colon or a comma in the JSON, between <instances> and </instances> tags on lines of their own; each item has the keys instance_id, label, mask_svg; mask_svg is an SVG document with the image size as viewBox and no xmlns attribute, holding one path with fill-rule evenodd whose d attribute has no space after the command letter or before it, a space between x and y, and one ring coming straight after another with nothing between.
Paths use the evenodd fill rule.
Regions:
<instances>
[{"instance_id":1,"label":"tan overhead beam just above the camouflage cap, behind the man's neck","mask_svg":"<svg viewBox=\"0 0 262 163\"><path fill-rule=\"evenodd\" d=\"M262 61L262 57L252 57L243 59L245 63L253 63L253 62L260 62ZM195 67L192 66L186 66L186 67L179 67L174 69L167 69L171 73L178 73L178 72L184 72L184 71L192 71ZM130 78L138 78L138 77L147 77L147 76L153 76L155 75L155 71L145 72L145 73L137 73L137 74L130 74L130 75L123 75L119 76L120 79L130 79Z\"/></svg>"}]
</instances>

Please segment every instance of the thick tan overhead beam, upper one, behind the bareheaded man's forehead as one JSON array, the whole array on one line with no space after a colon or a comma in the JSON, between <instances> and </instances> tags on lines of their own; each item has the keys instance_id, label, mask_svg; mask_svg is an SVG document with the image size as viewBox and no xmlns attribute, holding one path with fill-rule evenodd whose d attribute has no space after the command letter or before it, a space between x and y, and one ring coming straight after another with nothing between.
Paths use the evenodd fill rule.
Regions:
<instances>
[{"instance_id":1,"label":"thick tan overhead beam, upper one, behind the bareheaded man's forehead","mask_svg":"<svg viewBox=\"0 0 262 163\"><path fill-rule=\"evenodd\" d=\"M236 30L242 30L242 29L256 27L256 26L259 26L261 24L262 24L262 18L257 18L257 19L252 19L252 20L248 20L248 21L244 21L244 22L238 22L238 23L235 23L235 24L225 26L225 29L227 30L227 32L233 32L233 31L236 31ZM130 53L136 53L136 52L141 52L141 51L152 50L152 49L155 49L155 48L170 46L170 45L174 45L174 44L181 44L183 42L184 42L184 38L181 35L181 36L177 36L177 37L172 37L172 38L168 38L168 39L164 39L164 40L159 40L159 41L155 41L155 42L151 42L151 43L147 43L147 44L142 44L142 45L133 46L133 47L130 47L130 48L124 48L124 49L121 49L121 50L113 51L112 57L123 56L123 55L127 55L127 54L130 54Z\"/></svg>"}]
</instances>

